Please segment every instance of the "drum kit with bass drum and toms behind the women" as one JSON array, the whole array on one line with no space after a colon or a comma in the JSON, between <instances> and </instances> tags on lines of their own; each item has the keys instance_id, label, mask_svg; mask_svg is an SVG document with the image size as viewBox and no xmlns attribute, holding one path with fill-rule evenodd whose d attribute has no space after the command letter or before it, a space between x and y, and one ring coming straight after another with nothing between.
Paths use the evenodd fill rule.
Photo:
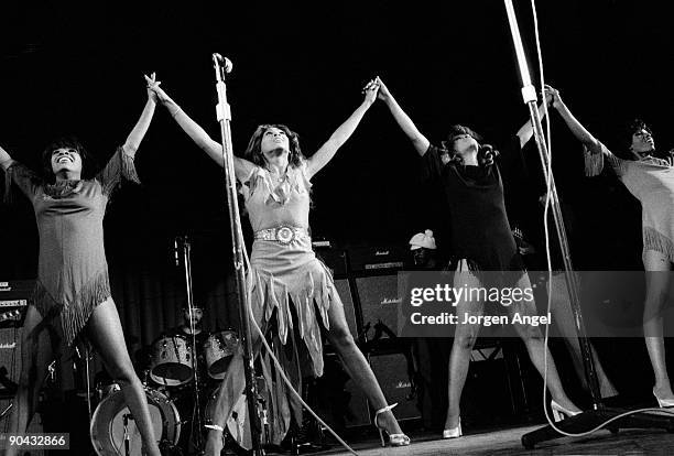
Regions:
<instances>
[{"instance_id":1,"label":"drum kit with bass drum and toms behind the women","mask_svg":"<svg viewBox=\"0 0 674 456\"><path fill-rule=\"evenodd\" d=\"M196 338L188 335L163 335L151 346L143 383L154 433L166 454L187 455L200 449L206 431L203 424L210 423L218 386L239 344L232 330L202 339L197 350L192 348ZM97 398L90 428L97 454L140 456L141 434L119 384L97 384ZM230 433L240 428L235 419L230 421Z\"/></svg>"}]
</instances>

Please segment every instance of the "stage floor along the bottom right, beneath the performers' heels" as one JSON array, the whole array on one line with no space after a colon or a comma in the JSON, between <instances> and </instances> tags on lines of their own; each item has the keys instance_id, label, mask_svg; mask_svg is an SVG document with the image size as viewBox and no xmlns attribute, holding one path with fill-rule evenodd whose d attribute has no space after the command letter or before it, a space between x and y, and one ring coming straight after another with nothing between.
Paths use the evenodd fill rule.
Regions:
<instances>
[{"instance_id":1,"label":"stage floor along the bottom right, beneath the performers' heels","mask_svg":"<svg viewBox=\"0 0 674 456\"><path fill-rule=\"evenodd\" d=\"M665 431L626 430L618 435L599 431L587 437L564 437L541 443L535 449L522 446L522 434L540 425L515 427L461 438L443 441L437 435L412 435L413 444L400 448L382 448L379 441L354 445L360 456L423 456L423 455L674 455L674 434ZM377 446L376 446L377 445ZM313 453L314 455L349 455L337 449Z\"/></svg>"}]
</instances>

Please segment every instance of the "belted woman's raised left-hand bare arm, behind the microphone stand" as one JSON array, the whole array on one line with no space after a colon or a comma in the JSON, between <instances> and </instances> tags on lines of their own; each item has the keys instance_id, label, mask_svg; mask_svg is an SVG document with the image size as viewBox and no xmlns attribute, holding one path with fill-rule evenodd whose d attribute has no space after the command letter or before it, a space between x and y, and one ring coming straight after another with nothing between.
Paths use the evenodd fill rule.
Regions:
<instances>
[{"instance_id":1,"label":"belted woman's raised left-hand bare arm, behind the microphone stand","mask_svg":"<svg viewBox=\"0 0 674 456\"><path fill-rule=\"evenodd\" d=\"M214 141L206 130L183 111L183 109L159 86L153 87L159 101L168 110L173 119L183 129L185 133L198 145L208 156L210 156L218 165L225 167L222 159L222 145ZM238 180L248 177L254 167L254 164L248 160L233 158L235 174Z\"/></svg>"}]
</instances>

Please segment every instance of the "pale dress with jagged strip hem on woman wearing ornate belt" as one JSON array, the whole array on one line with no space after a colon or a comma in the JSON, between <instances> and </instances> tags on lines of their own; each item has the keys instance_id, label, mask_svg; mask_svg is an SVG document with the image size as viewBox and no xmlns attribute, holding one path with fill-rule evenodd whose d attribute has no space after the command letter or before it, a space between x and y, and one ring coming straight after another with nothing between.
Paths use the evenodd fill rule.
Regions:
<instances>
[{"instance_id":1,"label":"pale dress with jagged strip hem on woman wearing ornate belt","mask_svg":"<svg viewBox=\"0 0 674 456\"><path fill-rule=\"evenodd\" d=\"M284 181L278 184L267 170L257 166L243 184L246 208L254 232L281 226L307 232L295 236L287 245L256 239L247 275L250 304L257 315L262 315L262 327L269 329L275 315L274 352L300 391L304 374L323 374L319 321L329 328L328 310L343 305L330 271L312 250L308 236L312 184L306 163L289 166ZM273 379L273 365L265 351L262 358L271 395L268 409L273 417L272 441L279 443L290 427L291 409L296 422L302 423L302 406L283 381Z\"/></svg>"}]
</instances>

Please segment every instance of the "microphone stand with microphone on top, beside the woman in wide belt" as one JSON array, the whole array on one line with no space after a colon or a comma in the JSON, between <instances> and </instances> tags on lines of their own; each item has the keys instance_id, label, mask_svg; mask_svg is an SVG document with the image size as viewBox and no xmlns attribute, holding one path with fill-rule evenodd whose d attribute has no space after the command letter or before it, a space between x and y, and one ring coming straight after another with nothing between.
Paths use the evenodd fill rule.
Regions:
<instances>
[{"instance_id":1,"label":"microphone stand with microphone on top, beside the woman in wide belt","mask_svg":"<svg viewBox=\"0 0 674 456\"><path fill-rule=\"evenodd\" d=\"M257 404L258 388L254 377L254 358L252 355L252 337L248 310L250 303L246 293L246 271L243 259L243 236L241 235L241 219L239 218L239 202L237 199L237 183L233 167L233 148L231 144L231 109L227 102L227 88L225 75L231 72L231 62L220 54L213 54L213 65L216 74L216 89L218 93L217 118L220 123L222 137L222 164L227 187L227 203L229 209L229 229L233 250L233 267L237 279L237 295L239 298L239 324L241 328L241 347L243 348L243 374L246 376L246 402L250 416L250 436L252 452L256 456L264 455L261 442L260 413Z\"/></svg>"}]
</instances>

